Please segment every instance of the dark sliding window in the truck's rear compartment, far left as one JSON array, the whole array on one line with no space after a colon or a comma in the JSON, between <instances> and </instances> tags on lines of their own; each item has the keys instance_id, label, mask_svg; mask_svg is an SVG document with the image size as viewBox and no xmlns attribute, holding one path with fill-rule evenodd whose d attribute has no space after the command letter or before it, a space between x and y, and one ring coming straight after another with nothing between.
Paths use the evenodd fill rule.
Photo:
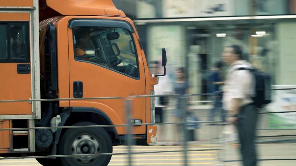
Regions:
<instances>
[{"instance_id":1,"label":"dark sliding window in the truck's rear compartment, far left","mask_svg":"<svg viewBox=\"0 0 296 166\"><path fill-rule=\"evenodd\" d=\"M0 62L29 62L28 22L0 23Z\"/></svg>"}]
</instances>

